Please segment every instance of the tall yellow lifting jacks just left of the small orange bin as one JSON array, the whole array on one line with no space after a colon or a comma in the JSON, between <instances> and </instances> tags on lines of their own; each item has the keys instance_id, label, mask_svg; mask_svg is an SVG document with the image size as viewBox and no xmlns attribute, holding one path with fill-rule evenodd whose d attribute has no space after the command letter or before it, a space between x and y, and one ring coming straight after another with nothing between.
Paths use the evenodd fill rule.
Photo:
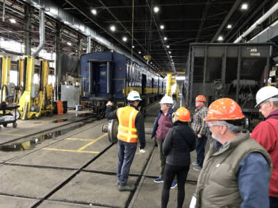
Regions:
<instances>
[{"instance_id":1,"label":"tall yellow lifting jacks just left of the small orange bin","mask_svg":"<svg viewBox=\"0 0 278 208\"><path fill-rule=\"evenodd\" d=\"M40 60L40 84L33 84L34 58L24 55L23 94L19 98L19 112L22 120L38 119L44 114L53 114L52 85L48 85L49 62Z\"/></svg>"}]
</instances>

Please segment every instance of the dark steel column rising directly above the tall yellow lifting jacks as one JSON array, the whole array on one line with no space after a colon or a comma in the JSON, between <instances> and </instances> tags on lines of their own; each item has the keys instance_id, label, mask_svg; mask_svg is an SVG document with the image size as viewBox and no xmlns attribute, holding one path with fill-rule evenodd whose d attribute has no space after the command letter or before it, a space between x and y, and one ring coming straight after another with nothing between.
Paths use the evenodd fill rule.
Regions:
<instances>
[{"instance_id":1,"label":"dark steel column rising directly above the tall yellow lifting jacks","mask_svg":"<svg viewBox=\"0 0 278 208\"><path fill-rule=\"evenodd\" d=\"M33 17L33 8L25 5L24 7L24 55L31 55L31 19Z\"/></svg>"}]
</instances>

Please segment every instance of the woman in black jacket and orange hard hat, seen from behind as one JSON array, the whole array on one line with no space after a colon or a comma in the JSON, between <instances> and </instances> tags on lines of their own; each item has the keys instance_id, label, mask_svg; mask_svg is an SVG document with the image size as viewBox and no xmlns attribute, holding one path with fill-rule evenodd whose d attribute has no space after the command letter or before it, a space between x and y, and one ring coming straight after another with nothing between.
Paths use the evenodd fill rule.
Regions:
<instances>
[{"instance_id":1,"label":"woman in black jacket and orange hard hat, seen from behind","mask_svg":"<svg viewBox=\"0 0 278 208\"><path fill-rule=\"evenodd\" d=\"M195 150L195 134L188 126L190 112L186 107L179 107L173 113L172 121L174 126L167 132L163 143L163 154L166 156L164 184L161 194L161 207L167 207L169 190L177 175L178 198L177 207L183 206L185 196L184 184L190 166L190 152Z\"/></svg>"}]
</instances>

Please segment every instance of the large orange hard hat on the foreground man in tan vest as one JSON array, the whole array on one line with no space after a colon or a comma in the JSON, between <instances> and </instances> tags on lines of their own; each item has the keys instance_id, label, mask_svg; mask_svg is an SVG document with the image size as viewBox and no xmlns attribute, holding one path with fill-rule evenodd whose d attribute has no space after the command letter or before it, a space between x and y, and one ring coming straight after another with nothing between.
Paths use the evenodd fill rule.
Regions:
<instances>
[{"instance_id":1,"label":"large orange hard hat on the foreground man in tan vest","mask_svg":"<svg viewBox=\"0 0 278 208\"><path fill-rule=\"evenodd\" d=\"M243 112L236 101L231 98L220 98L209 105L208 116L204 120L237 120L243 118Z\"/></svg>"}]
</instances>

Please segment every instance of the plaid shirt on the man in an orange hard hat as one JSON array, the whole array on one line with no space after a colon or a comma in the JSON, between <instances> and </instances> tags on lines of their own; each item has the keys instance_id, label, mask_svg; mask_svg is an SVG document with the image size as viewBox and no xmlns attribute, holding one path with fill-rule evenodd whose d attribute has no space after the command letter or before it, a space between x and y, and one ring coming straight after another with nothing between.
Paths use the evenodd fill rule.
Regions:
<instances>
[{"instance_id":1,"label":"plaid shirt on the man in an orange hard hat","mask_svg":"<svg viewBox=\"0 0 278 208\"><path fill-rule=\"evenodd\" d=\"M200 134L202 136L206 136L207 127L204 118L206 118L207 114L208 114L208 108L204 105L199 109L195 110L195 114L193 116L193 122L191 123L191 128L193 128L195 135Z\"/></svg>"}]
</instances>

